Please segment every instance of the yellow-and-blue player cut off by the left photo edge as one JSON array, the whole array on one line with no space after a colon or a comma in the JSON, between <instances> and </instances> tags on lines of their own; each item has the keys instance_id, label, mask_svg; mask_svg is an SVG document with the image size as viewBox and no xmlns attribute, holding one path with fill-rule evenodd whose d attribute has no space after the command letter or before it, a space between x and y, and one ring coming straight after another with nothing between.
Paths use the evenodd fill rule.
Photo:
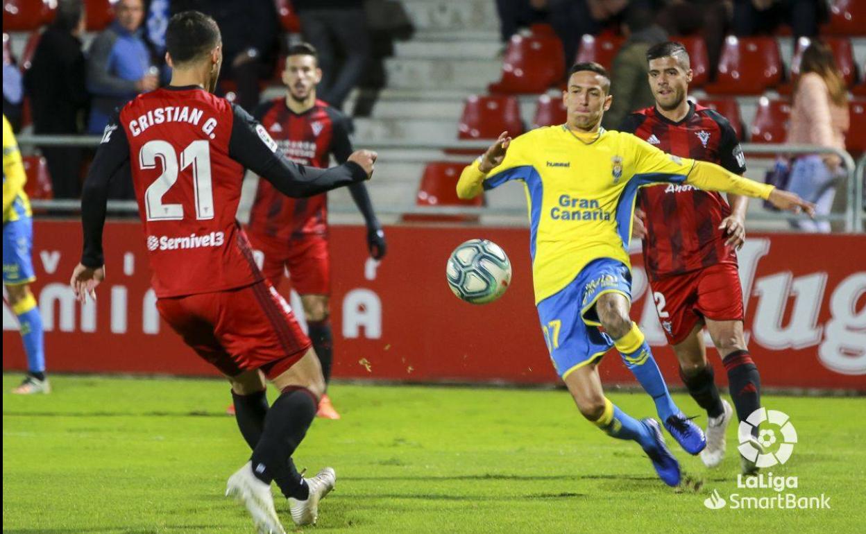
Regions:
<instances>
[{"instance_id":1,"label":"yellow-and-blue player cut off by the left photo edge","mask_svg":"<svg viewBox=\"0 0 866 534\"><path fill-rule=\"evenodd\" d=\"M21 325L24 352L29 372L12 393L28 395L48 393L45 377L45 352L42 344L42 316L36 298L30 293L30 282L36 280L33 261L33 219L30 201L24 192L24 165L12 126L3 115L3 286L9 295L12 312Z\"/></svg>"}]
</instances>

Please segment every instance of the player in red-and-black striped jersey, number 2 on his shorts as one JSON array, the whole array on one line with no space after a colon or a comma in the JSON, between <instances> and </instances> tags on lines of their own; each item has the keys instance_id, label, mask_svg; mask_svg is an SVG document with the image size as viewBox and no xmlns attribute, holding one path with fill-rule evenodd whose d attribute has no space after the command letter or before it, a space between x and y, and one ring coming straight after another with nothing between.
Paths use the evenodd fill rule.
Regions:
<instances>
[{"instance_id":1,"label":"player in red-and-black striped jersey, number 2 on his shorts","mask_svg":"<svg viewBox=\"0 0 866 534\"><path fill-rule=\"evenodd\" d=\"M742 175L746 159L730 123L720 113L687 100L692 80L686 49L662 42L647 51L649 83L656 106L630 114L620 128L675 156L720 164ZM743 296L736 250L746 238L746 196L702 191L690 185L643 188L636 235L656 312L680 364L688 392L707 410L707 447L701 460L718 466L733 410L721 399L708 364L704 326L727 370L737 417L760 408L760 376L743 336ZM728 204L728 202L730 204ZM643 223L643 224L640 224ZM755 448L760 448L757 441ZM742 458L742 470L754 473ZM754 459L752 459L754 460Z\"/></svg>"}]
</instances>

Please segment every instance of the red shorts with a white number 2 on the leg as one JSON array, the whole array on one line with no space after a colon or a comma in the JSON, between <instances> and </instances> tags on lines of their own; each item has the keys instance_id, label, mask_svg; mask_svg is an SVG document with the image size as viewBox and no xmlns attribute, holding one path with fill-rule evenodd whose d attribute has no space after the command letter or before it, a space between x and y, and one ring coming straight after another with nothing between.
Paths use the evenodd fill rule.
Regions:
<instances>
[{"instance_id":1,"label":"red shorts with a white number 2 on the leg","mask_svg":"<svg viewBox=\"0 0 866 534\"><path fill-rule=\"evenodd\" d=\"M651 281L650 288L669 344L682 343L703 318L743 320L740 273L730 263Z\"/></svg>"}]
</instances>

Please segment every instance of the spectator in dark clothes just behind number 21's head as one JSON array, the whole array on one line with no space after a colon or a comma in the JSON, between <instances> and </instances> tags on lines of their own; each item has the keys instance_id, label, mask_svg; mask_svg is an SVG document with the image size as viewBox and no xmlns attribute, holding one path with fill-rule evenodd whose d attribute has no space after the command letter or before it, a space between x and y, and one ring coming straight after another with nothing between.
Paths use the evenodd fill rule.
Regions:
<instances>
[{"instance_id":1,"label":"spectator in dark clothes just behind number 21's head","mask_svg":"<svg viewBox=\"0 0 866 534\"><path fill-rule=\"evenodd\" d=\"M172 15L186 10L216 21L223 35L221 78L235 82L237 105L252 112L259 104L259 80L274 74L280 32L274 0L171 0Z\"/></svg>"}]
</instances>

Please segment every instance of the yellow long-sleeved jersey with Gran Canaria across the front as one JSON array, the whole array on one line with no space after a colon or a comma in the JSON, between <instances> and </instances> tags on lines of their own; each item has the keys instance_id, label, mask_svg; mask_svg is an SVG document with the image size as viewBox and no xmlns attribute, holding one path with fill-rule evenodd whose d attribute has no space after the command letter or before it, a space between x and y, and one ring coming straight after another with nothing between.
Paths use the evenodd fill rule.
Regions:
<instances>
[{"instance_id":1,"label":"yellow long-sleeved jersey with Gran Canaria across the front","mask_svg":"<svg viewBox=\"0 0 866 534\"><path fill-rule=\"evenodd\" d=\"M514 138L500 165L487 176L471 164L458 192L485 190L512 180L527 193L535 302L559 293L591 261L612 258L630 267L632 214L639 187L653 183L690 183L708 190L766 196L771 186L721 176L695 160L678 158L630 133L599 129L578 134L565 125L546 126ZM718 168L725 175L732 173ZM722 179L723 178L723 179ZM739 177L738 177L739 178ZM468 189L469 188L469 189Z\"/></svg>"}]
</instances>

